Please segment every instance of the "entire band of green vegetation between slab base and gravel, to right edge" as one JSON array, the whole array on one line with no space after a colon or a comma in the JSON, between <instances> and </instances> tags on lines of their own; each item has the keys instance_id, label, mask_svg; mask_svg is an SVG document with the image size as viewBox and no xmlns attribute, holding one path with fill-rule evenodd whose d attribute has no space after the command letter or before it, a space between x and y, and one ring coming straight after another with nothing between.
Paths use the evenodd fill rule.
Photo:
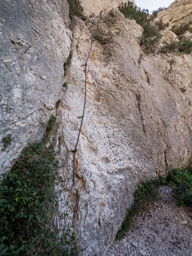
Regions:
<instances>
[{"instance_id":1,"label":"entire band of green vegetation between slab base and gravel, to right edge","mask_svg":"<svg viewBox=\"0 0 192 256\"><path fill-rule=\"evenodd\" d=\"M133 224L133 217L149 203L158 200L158 188L160 185L168 185L173 189L174 199L179 206L192 207L192 169L173 169L166 178L142 182L134 193L134 201L127 211L125 220L118 231L116 238L123 238Z\"/></svg>"}]
</instances>

